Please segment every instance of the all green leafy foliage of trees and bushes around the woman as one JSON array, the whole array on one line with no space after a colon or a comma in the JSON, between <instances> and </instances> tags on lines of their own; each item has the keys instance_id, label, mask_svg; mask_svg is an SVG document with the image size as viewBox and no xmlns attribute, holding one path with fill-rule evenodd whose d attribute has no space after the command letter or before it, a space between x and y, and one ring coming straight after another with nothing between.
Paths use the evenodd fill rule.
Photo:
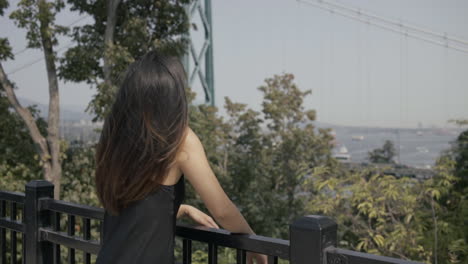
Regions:
<instances>
[{"instance_id":1,"label":"all green leafy foliage of trees and bushes around the woman","mask_svg":"<svg viewBox=\"0 0 468 264\"><path fill-rule=\"evenodd\" d=\"M76 46L60 58L59 74L65 81L97 88L89 105L96 119L107 113L119 75L135 58L154 48L183 53L182 36L189 26L183 5L188 0L122 1L108 47L107 2L68 3L73 11L90 15L93 24L71 30L56 25L63 1L21 0L10 17L26 29L28 47L42 47L41 32L53 45L60 34L72 37ZM6 7L8 2L0 0L0 15ZM41 21L48 26L41 28ZM105 57L111 66L110 83L103 81ZM0 60L6 59L13 59L13 54L8 40L0 38ZM311 91L301 91L292 74L268 78L259 90L264 98L260 112L228 98L226 119L207 105L191 105L189 111L190 126L202 140L215 174L258 234L287 238L288 223L317 213L338 222L342 247L425 262L468 262L468 131L438 160L432 179L395 178L373 169L349 172L331 158L329 130L316 129L315 111L303 106ZM190 101L194 96L188 92ZM45 122L37 112L34 116L45 135ZM94 147L62 143L64 200L99 206ZM393 143L387 141L370 152L369 159L392 163L394 155ZM41 173L26 127L2 93L0 189L24 191L24 184L42 178ZM186 202L203 208L190 185L187 188ZM194 249L194 263L205 263L206 251ZM221 263L234 261L232 251L221 255Z\"/></svg>"}]
</instances>

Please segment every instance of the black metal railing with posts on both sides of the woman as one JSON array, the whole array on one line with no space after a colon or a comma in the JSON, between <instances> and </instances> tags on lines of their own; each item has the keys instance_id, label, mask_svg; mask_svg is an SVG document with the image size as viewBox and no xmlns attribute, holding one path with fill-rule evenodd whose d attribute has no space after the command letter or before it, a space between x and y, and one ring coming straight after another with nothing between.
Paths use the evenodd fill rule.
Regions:
<instances>
[{"instance_id":1,"label":"black metal railing with posts on both sides of the woman","mask_svg":"<svg viewBox=\"0 0 468 264\"><path fill-rule=\"evenodd\" d=\"M60 263L61 246L68 250L67 263L76 263L76 250L83 252L84 263L91 263L91 255L98 254L104 210L54 200L53 189L50 182L35 180L26 184L25 194L0 191L0 264ZM62 215L66 216L66 229L61 225ZM82 220L78 225L80 235L76 233L77 218ZM94 225L98 229L96 238L92 237L92 221L98 222ZM7 239L7 229L10 239ZM325 216L301 217L290 224L289 230L288 241L178 224L176 236L182 239L184 264L192 261L192 241L208 245L210 264L217 263L220 247L236 249L236 263L241 264L246 263L247 251L268 255L269 263L278 263L278 259L293 264L417 263L336 248L337 225ZM21 254L17 252L18 244L22 247Z\"/></svg>"}]
</instances>

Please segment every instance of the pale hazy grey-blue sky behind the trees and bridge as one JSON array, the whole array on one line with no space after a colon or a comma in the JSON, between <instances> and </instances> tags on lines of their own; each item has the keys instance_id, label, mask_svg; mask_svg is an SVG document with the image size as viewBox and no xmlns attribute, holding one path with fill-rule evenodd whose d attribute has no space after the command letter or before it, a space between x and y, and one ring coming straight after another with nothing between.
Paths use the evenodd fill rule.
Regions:
<instances>
[{"instance_id":1,"label":"pale hazy grey-blue sky behind the trees and bridge","mask_svg":"<svg viewBox=\"0 0 468 264\"><path fill-rule=\"evenodd\" d=\"M7 15L16 8L10 1ZM468 40L468 1L340 0L379 16L424 26ZM224 97L260 111L257 89L265 78L292 73L302 90L312 90L307 109L317 120L349 126L447 126L468 118L468 54L385 31L317 9L296 0L212 0L216 104ZM67 25L79 14L57 18ZM197 17L194 18L199 23ZM83 18L76 25L91 23ZM202 32L192 32L195 48ZM26 46L25 31L0 18L0 36L13 52ZM61 39L57 48L69 45ZM60 52L59 52L60 53ZM26 50L2 62L20 97L48 102L42 57ZM10 74L9 74L10 73ZM200 99L202 90L195 85ZM95 90L86 84L60 83L60 102L80 111ZM222 109L221 112L223 113Z\"/></svg>"}]
</instances>

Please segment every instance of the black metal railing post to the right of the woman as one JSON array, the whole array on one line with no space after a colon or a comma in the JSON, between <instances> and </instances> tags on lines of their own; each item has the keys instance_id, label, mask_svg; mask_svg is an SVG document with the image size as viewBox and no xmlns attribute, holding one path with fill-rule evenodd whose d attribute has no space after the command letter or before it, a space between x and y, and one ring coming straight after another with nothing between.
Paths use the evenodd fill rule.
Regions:
<instances>
[{"instance_id":1,"label":"black metal railing post to the right of the woman","mask_svg":"<svg viewBox=\"0 0 468 264\"><path fill-rule=\"evenodd\" d=\"M336 246L336 223L320 215L303 216L289 225L291 264L326 264L324 249Z\"/></svg>"}]
</instances>

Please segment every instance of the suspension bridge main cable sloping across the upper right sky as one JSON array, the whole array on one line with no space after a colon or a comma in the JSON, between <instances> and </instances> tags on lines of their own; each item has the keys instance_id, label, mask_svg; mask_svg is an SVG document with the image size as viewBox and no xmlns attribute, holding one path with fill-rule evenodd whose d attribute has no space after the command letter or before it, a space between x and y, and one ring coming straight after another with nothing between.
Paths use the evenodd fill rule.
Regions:
<instances>
[{"instance_id":1,"label":"suspension bridge main cable sloping across the upper right sky","mask_svg":"<svg viewBox=\"0 0 468 264\"><path fill-rule=\"evenodd\" d=\"M438 33L433 30L429 30L429 29L425 29L425 28L421 28L421 27L417 27L413 25L408 25L406 23L382 18L377 15L364 12L361 9L353 9L353 8L345 7L343 5L332 3L330 1L325 1L325 0L314 0L314 1L297 0L297 1L308 4L310 6L313 6L319 9L322 9L322 10L325 10L325 11L329 11L334 14L338 14L338 15L362 22L362 23L370 24L370 25L379 27L387 31L392 31L397 34L409 36L409 37L419 39L428 43L436 44L436 45L446 47L449 49L453 49L453 50L457 50L463 53L468 53L468 47L464 47L468 45L468 41L450 36L447 33ZM376 20L379 22L377 22ZM454 44L453 42L456 42L458 44Z\"/></svg>"}]
</instances>

